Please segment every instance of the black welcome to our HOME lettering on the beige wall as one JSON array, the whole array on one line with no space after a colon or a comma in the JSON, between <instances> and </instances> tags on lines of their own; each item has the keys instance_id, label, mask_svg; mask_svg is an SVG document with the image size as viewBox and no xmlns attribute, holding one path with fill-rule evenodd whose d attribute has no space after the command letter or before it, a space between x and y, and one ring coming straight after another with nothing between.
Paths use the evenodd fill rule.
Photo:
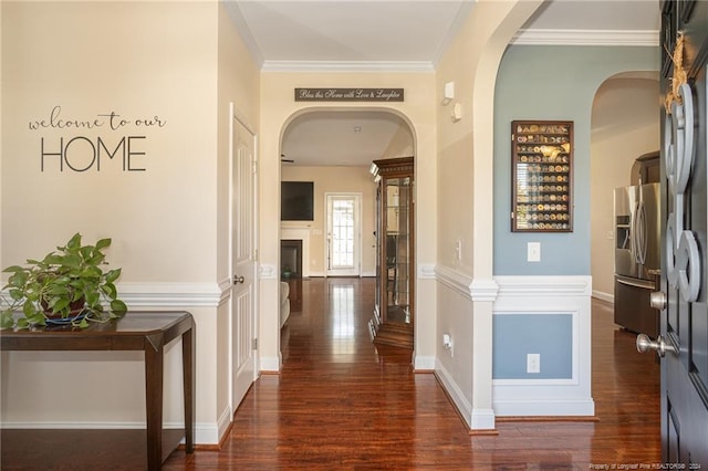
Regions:
<instances>
[{"instance_id":1,"label":"black welcome to our HOME lettering on the beige wall","mask_svg":"<svg viewBox=\"0 0 708 471\"><path fill-rule=\"evenodd\" d=\"M30 119L29 128L63 134L40 138L41 171L101 171L117 165L123 171L145 171L146 129L162 128L166 124L158 115L137 117L115 111L93 116L67 116L61 106L54 106L46 116Z\"/></svg>"}]
</instances>

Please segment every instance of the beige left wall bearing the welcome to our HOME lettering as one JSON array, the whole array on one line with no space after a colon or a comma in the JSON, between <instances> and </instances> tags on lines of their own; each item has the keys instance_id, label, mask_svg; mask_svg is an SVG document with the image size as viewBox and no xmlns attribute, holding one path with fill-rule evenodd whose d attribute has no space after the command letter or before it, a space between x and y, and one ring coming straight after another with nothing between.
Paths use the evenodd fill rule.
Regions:
<instances>
[{"instance_id":1,"label":"beige left wall bearing the welcome to our HOME lettering","mask_svg":"<svg viewBox=\"0 0 708 471\"><path fill-rule=\"evenodd\" d=\"M216 442L230 421L228 384L220 379L228 378L229 358L220 287L229 280L225 113L236 102L257 128L258 69L217 2L0 8L2 265L41 257L76 231L88 241L113 238L108 260L123 268L118 290L132 310L184 308L195 315L197 441ZM58 106L61 119L101 124L52 125ZM113 127L105 116L111 113ZM41 121L38 129L28 125ZM113 151L129 136L131 168L122 160L123 147L113 159L101 150L100 169L92 164L90 143L102 139ZM63 139L65 160L85 171L66 163L61 171L59 157L49 155L42 171L42 138L45 153L60 151ZM178 350L170 347L168 385L179 381ZM101 362L83 362L77 354L3 353L3 425L144 421L140 355L91 358ZM178 423L179 388L166 389L166 420ZM51 405L58 394L88 398L56 408Z\"/></svg>"}]
</instances>

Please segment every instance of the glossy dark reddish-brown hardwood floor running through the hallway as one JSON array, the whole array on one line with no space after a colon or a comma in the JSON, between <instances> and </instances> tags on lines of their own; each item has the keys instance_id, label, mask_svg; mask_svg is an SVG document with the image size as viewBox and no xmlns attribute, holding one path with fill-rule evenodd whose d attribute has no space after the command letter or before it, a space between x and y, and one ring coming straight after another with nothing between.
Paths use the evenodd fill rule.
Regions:
<instances>
[{"instance_id":1,"label":"glossy dark reddish-brown hardwood floor running through the hallway","mask_svg":"<svg viewBox=\"0 0 708 471\"><path fill-rule=\"evenodd\" d=\"M498 421L470 436L409 350L374 346L374 280L311 279L282 331L280 375L263 375L220 451L175 451L167 470L589 470L660 463L659 374L635 335L593 301L596 421ZM295 287L296 289L296 287ZM627 468L628 469L628 468ZM650 469L650 468L649 468Z\"/></svg>"}]
</instances>

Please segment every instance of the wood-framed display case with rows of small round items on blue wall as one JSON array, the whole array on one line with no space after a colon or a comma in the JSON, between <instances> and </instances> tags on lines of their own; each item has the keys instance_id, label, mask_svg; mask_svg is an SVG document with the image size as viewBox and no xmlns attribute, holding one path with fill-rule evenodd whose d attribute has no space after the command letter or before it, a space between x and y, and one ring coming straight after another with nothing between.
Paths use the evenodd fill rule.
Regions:
<instances>
[{"instance_id":1,"label":"wood-framed display case with rows of small round items on blue wall","mask_svg":"<svg viewBox=\"0 0 708 471\"><path fill-rule=\"evenodd\" d=\"M573 231L573 122L511 122L511 231Z\"/></svg>"}]
</instances>

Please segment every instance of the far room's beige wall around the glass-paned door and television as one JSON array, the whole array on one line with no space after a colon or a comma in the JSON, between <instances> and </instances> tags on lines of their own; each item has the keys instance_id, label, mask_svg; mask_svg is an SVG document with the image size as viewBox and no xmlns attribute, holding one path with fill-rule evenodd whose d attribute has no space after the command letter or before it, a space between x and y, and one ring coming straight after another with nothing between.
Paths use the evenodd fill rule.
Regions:
<instances>
[{"instance_id":1,"label":"far room's beige wall around the glass-paned door and television","mask_svg":"<svg viewBox=\"0 0 708 471\"><path fill-rule=\"evenodd\" d=\"M325 193L355 192L362 195L362 275L376 275L376 239L374 237L376 185L368 172L368 167L290 167L283 165L281 169L283 181L314 182L314 221L288 221L281 228L301 228L309 230L310 260L308 272L310 276L324 276L326 216Z\"/></svg>"}]
</instances>

